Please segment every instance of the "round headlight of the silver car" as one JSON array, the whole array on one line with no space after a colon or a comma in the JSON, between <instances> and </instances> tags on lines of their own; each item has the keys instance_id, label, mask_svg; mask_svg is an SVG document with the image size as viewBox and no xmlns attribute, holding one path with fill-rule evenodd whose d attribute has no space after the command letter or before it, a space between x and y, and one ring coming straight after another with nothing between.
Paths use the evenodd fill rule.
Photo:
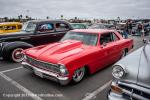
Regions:
<instances>
[{"instance_id":1,"label":"round headlight of the silver car","mask_svg":"<svg viewBox=\"0 0 150 100\"><path fill-rule=\"evenodd\" d=\"M125 75L125 70L121 66L115 65L112 70L112 75L115 78L120 79Z\"/></svg>"}]
</instances>

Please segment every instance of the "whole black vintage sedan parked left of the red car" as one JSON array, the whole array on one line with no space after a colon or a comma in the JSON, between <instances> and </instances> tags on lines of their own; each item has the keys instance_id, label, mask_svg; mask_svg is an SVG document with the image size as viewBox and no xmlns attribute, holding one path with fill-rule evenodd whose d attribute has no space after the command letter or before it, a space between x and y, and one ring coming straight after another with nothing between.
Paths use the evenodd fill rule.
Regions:
<instances>
[{"instance_id":1,"label":"whole black vintage sedan parked left of the red car","mask_svg":"<svg viewBox=\"0 0 150 100\"><path fill-rule=\"evenodd\" d=\"M21 62L23 49L59 41L73 28L63 20L31 20L22 30L0 35L0 58Z\"/></svg>"}]
</instances>

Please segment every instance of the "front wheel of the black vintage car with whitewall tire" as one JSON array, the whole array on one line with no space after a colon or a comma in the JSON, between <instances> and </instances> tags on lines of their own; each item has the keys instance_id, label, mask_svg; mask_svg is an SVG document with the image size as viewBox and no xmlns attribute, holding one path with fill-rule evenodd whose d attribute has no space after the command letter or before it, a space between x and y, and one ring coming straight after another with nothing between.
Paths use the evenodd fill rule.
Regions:
<instances>
[{"instance_id":1,"label":"front wheel of the black vintage car with whitewall tire","mask_svg":"<svg viewBox=\"0 0 150 100\"><path fill-rule=\"evenodd\" d=\"M12 51L11 58L14 62L21 62L24 59L24 54L22 53L22 48L16 48Z\"/></svg>"}]
</instances>

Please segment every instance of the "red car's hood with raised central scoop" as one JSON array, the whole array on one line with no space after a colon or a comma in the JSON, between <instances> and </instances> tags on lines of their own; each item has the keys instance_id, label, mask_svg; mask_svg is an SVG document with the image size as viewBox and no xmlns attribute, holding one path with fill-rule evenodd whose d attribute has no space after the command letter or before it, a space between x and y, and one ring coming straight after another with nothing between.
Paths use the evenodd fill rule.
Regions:
<instances>
[{"instance_id":1,"label":"red car's hood with raised central scoop","mask_svg":"<svg viewBox=\"0 0 150 100\"><path fill-rule=\"evenodd\" d=\"M88 50L89 47L80 41L66 40L28 49L26 54L45 62L58 63L68 57L71 60L72 56Z\"/></svg>"}]
</instances>

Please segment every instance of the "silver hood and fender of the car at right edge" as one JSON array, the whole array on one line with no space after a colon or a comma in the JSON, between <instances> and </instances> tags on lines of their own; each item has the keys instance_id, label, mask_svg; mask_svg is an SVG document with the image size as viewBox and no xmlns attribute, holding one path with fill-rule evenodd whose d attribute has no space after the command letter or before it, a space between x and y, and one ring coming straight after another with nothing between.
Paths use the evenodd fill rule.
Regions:
<instances>
[{"instance_id":1,"label":"silver hood and fender of the car at right edge","mask_svg":"<svg viewBox=\"0 0 150 100\"><path fill-rule=\"evenodd\" d=\"M146 45L129 54L117 65L122 66L126 75L121 81L131 82L150 88L150 45Z\"/></svg>"}]
</instances>

